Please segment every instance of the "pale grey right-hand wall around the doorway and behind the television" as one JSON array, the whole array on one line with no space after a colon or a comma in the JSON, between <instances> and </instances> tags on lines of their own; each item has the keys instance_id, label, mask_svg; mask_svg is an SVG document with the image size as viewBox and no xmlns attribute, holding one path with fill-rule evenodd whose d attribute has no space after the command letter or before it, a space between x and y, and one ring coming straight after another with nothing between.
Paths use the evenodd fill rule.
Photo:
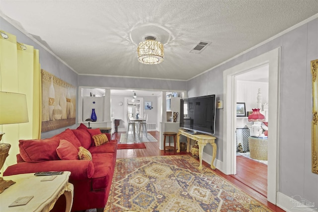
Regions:
<instances>
[{"instance_id":1,"label":"pale grey right-hand wall around the doorway and behind the television","mask_svg":"<svg viewBox=\"0 0 318 212\"><path fill-rule=\"evenodd\" d=\"M188 96L216 94L224 100L223 71L278 47L281 47L279 192L289 197L300 195L318 203L318 175L311 171L310 68L310 62L318 59L318 18L189 80ZM217 159L221 161L224 157L223 112L217 110L215 135ZM212 148L204 148L204 151L212 155Z\"/></svg>"}]
</instances>

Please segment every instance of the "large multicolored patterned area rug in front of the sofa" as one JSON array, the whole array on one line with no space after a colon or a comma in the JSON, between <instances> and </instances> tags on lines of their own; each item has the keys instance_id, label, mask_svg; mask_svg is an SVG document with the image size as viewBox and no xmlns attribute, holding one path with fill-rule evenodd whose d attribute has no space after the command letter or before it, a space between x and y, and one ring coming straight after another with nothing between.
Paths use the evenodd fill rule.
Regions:
<instances>
[{"instance_id":1,"label":"large multicolored patterned area rug in front of the sofa","mask_svg":"<svg viewBox=\"0 0 318 212\"><path fill-rule=\"evenodd\" d=\"M189 155L117 159L104 212L271 212Z\"/></svg>"}]
</instances>

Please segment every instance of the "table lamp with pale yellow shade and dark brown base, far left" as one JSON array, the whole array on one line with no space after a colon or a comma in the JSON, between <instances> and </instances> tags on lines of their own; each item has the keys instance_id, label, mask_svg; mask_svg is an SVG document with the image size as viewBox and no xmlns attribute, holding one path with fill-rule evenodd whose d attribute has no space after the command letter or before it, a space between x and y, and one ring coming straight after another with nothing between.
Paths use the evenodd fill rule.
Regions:
<instances>
[{"instance_id":1,"label":"table lamp with pale yellow shade and dark brown base, far left","mask_svg":"<svg viewBox=\"0 0 318 212\"><path fill-rule=\"evenodd\" d=\"M25 94L0 91L0 125L25 122L29 122ZM3 135L0 133L0 141ZM0 143L0 169L9 155L10 147L9 143ZM0 177L0 193L14 183Z\"/></svg>"}]
</instances>

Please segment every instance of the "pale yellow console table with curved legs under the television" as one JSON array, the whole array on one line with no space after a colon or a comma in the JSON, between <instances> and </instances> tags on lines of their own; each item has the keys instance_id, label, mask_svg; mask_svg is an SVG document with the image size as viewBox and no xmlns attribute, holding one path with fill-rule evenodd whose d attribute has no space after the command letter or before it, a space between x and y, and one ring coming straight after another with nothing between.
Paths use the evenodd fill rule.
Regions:
<instances>
[{"instance_id":1,"label":"pale yellow console table with curved legs under the television","mask_svg":"<svg viewBox=\"0 0 318 212\"><path fill-rule=\"evenodd\" d=\"M215 169L215 166L213 165L214 160L217 155L217 144L215 143L216 138L214 136L206 135L206 134L197 134L193 135L190 133L187 133L183 129L178 130L177 134L177 152L180 152L180 135L187 137L187 152L190 151L190 139L197 141L199 145L199 159L200 159L200 166L199 169L202 169L202 154L203 154L203 148L207 143L211 143L213 147L213 152L212 152L212 161L211 161L211 168Z\"/></svg>"}]
</instances>

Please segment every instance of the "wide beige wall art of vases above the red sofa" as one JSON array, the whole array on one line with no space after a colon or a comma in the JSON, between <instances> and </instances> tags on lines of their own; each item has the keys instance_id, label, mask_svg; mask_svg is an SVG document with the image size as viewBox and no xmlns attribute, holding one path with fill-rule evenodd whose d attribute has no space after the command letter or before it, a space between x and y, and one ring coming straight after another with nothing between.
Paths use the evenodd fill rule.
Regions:
<instances>
[{"instance_id":1,"label":"wide beige wall art of vases above the red sofa","mask_svg":"<svg viewBox=\"0 0 318 212\"><path fill-rule=\"evenodd\" d=\"M75 125L76 87L41 69L42 130Z\"/></svg>"}]
</instances>

